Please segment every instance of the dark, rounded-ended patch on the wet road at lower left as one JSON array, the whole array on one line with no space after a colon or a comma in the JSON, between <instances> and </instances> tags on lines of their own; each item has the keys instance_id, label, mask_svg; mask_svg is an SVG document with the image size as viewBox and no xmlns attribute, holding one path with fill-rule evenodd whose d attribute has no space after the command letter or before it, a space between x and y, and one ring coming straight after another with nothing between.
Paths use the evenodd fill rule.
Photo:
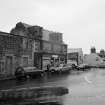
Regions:
<instances>
[{"instance_id":1,"label":"dark, rounded-ended patch on the wet road at lower left","mask_svg":"<svg viewBox=\"0 0 105 105\"><path fill-rule=\"evenodd\" d=\"M21 88L0 91L0 105L63 105L65 87Z\"/></svg>"}]
</instances>

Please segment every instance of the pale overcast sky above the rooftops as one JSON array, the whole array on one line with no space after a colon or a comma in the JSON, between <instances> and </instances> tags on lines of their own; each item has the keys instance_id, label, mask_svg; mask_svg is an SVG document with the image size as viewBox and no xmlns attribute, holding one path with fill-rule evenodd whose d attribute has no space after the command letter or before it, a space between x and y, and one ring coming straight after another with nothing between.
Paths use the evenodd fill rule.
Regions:
<instances>
[{"instance_id":1,"label":"pale overcast sky above the rooftops","mask_svg":"<svg viewBox=\"0 0 105 105\"><path fill-rule=\"evenodd\" d=\"M17 22L63 33L69 48L105 49L105 0L0 0L0 31Z\"/></svg>"}]
</instances>

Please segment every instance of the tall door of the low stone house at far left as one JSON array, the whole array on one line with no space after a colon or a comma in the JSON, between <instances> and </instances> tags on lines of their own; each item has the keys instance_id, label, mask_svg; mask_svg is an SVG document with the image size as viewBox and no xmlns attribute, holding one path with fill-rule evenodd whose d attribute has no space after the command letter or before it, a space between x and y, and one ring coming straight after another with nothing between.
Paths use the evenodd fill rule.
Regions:
<instances>
[{"instance_id":1,"label":"tall door of the low stone house at far left","mask_svg":"<svg viewBox=\"0 0 105 105\"><path fill-rule=\"evenodd\" d=\"M12 56L6 56L6 72L7 72L7 75L13 74L13 57Z\"/></svg>"}]
</instances>

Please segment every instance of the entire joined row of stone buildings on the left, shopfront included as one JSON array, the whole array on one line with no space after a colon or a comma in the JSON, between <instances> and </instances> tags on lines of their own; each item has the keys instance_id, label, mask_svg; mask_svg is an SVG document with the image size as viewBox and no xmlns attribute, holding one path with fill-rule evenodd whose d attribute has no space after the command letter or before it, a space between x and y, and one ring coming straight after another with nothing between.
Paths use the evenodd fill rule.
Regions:
<instances>
[{"instance_id":1,"label":"entire joined row of stone buildings on the left, shopfront included","mask_svg":"<svg viewBox=\"0 0 105 105\"><path fill-rule=\"evenodd\" d=\"M0 32L0 75L14 75L19 65L44 69L48 63L66 63L67 45L62 36L22 22L10 33Z\"/></svg>"}]
</instances>

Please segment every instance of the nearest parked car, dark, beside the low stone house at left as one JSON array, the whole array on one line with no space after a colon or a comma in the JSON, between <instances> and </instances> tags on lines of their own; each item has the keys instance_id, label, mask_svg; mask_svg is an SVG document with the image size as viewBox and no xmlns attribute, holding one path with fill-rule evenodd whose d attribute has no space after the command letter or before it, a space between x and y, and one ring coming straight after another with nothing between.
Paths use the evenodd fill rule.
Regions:
<instances>
[{"instance_id":1,"label":"nearest parked car, dark, beside the low stone house at left","mask_svg":"<svg viewBox=\"0 0 105 105\"><path fill-rule=\"evenodd\" d=\"M15 71L15 76L17 79L43 76L44 71L36 67L18 67Z\"/></svg>"}]
</instances>

